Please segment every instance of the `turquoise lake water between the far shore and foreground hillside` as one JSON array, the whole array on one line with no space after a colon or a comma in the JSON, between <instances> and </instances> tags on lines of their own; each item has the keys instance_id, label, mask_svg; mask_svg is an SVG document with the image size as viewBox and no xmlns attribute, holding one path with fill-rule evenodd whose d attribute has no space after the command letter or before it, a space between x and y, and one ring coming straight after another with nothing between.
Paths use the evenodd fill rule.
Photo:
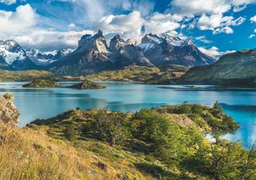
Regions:
<instances>
[{"instance_id":1,"label":"turquoise lake water between the far shore and foreground hillside","mask_svg":"<svg viewBox=\"0 0 256 180\"><path fill-rule=\"evenodd\" d=\"M240 124L238 132L226 138L240 140L249 147L256 141L256 89L222 88L218 86L158 86L129 82L102 82L105 90L26 89L25 82L2 82L0 94L11 92L14 103L21 112L19 126L36 118L50 118L66 110L81 107L132 112L141 108L175 105L188 101L213 106L218 101L227 114ZM70 85L63 82L62 86Z\"/></svg>"}]
</instances>

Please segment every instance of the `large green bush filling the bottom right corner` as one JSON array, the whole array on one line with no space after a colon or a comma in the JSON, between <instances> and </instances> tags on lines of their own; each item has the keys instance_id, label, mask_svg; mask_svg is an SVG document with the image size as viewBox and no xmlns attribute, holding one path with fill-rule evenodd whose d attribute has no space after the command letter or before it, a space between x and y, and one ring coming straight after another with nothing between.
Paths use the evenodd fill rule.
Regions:
<instances>
[{"instance_id":1,"label":"large green bush filling the bottom right corner","mask_svg":"<svg viewBox=\"0 0 256 180\"><path fill-rule=\"evenodd\" d=\"M222 141L200 146L194 155L183 160L182 165L189 172L210 179L256 179L255 150L248 152L237 142Z\"/></svg>"}]
</instances>

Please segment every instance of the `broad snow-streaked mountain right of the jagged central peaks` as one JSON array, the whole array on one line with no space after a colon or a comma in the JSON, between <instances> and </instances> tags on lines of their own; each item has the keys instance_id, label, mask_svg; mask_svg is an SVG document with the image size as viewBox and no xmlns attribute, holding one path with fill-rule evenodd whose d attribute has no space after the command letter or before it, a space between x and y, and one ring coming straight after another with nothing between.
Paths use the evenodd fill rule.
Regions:
<instances>
[{"instance_id":1,"label":"broad snow-streaked mountain right of the jagged central peaks","mask_svg":"<svg viewBox=\"0 0 256 180\"><path fill-rule=\"evenodd\" d=\"M203 54L190 38L171 34L146 34L140 47L145 57L155 66L178 64L182 66L203 66L215 62Z\"/></svg>"}]
</instances>

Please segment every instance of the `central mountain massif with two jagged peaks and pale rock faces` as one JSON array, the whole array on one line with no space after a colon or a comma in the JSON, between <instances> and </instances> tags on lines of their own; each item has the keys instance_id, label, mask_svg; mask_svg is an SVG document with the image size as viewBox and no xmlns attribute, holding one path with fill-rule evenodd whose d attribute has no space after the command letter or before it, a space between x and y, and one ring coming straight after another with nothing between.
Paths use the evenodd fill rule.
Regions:
<instances>
[{"instance_id":1,"label":"central mountain massif with two jagged peaks and pale rock faces","mask_svg":"<svg viewBox=\"0 0 256 180\"><path fill-rule=\"evenodd\" d=\"M61 75L82 75L102 70L118 70L124 66L154 66L145 58L142 49L116 35L106 45L102 31L94 36L86 34L78 42L78 49L54 63L50 70Z\"/></svg>"}]
</instances>

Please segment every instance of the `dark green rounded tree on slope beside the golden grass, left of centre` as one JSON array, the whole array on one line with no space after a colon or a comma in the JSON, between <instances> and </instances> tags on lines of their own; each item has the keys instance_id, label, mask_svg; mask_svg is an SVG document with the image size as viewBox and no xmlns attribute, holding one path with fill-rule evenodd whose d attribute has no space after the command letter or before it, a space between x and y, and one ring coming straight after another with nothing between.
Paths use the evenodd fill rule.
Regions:
<instances>
[{"instance_id":1,"label":"dark green rounded tree on slope beside the golden grass, left of centre","mask_svg":"<svg viewBox=\"0 0 256 180\"><path fill-rule=\"evenodd\" d=\"M129 136L126 114L119 111L109 113L107 110L100 110L95 118L95 125L99 137L110 143L110 146Z\"/></svg>"}]
</instances>

